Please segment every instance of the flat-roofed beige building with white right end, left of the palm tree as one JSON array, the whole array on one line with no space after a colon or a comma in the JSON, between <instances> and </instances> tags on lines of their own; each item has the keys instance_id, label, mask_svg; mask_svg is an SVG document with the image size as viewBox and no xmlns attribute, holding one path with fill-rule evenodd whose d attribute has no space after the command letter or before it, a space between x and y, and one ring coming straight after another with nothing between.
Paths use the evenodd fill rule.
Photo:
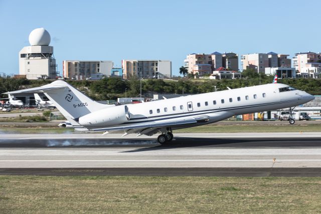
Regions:
<instances>
[{"instance_id":1,"label":"flat-roofed beige building with white right end, left of the palm tree","mask_svg":"<svg viewBox=\"0 0 321 214\"><path fill-rule=\"evenodd\" d=\"M124 79L130 76L141 78L171 78L172 62L169 60L122 60Z\"/></svg>"}]
</instances>

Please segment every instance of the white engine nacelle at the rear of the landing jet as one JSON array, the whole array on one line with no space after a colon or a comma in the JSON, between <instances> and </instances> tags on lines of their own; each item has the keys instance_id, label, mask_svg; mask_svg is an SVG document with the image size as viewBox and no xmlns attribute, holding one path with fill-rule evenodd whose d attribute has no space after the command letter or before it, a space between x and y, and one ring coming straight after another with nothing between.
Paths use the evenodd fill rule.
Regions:
<instances>
[{"instance_id":1,"label":"white engine nacelle at the rear of the landing jet","mask_svg":"<svg viewBox=\"0 0 321 214\"><path fill-rule=\"evenodd\" d=\"M110 127L125 123L129 120L127 105L119 105L99 110L79 118L84 127Z\"/></svg>"}]
</instances>

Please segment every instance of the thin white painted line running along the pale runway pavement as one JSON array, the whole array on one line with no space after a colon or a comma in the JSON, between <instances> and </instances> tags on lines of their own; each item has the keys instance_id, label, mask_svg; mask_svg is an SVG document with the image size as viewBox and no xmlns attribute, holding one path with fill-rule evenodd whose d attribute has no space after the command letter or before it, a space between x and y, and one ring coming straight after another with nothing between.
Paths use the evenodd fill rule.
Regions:
<instances>
[{"instance_id":1,"label":"thin white painted line running along the pale runway pavement","mask_svg":"<svg viewBox=\"0 0 321 214\"><path fill-rule=\"evenodd\" d=\"M196 160L0 160L0 162L166 162L166 161L181 161L181 162L187 162L187 161L273 161L272 159L196 159ZM280 161L320 161L321 159L278 159L276 162Z\"/></svg>"}]
</instances>

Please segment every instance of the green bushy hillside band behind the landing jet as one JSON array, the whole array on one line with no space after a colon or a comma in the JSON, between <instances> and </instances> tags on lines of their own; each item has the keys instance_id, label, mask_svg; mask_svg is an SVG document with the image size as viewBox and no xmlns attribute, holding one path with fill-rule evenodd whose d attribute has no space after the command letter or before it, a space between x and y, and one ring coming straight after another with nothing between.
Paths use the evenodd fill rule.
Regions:
<instances>
[{"instance_id":1,"label":"green bushy hillside band behind the landing jet","mask_svg":"<svg viewBox=\"0 0 321 214\"><path fill-rule=\"evenodd\" d=\"M178 81L167 81L162 79L144 79L142 80L142 94L147 97L148 92L152 93L206 93L214 89L214 85L219 90L226 90L227 87L239 88L271 83L273 76L261 75L261 77L246 77L243 79L179 79ZM48 84L53 80L28 80L14 78L0 78L0 93L7 91L20 90L24 88L37 87ZM116 99L124 97L125 91L128 97L139 96L140 81L137 78L122 80L119 77L110 77L102 80L81 80L70 81L68 83L78 88L96 100ZM304 90L312 95L321 95L321 79L296 78L296 79L279 79L278 82L291 85L300 90ZM7 97L1 94L2 97Z\"/></svg>"}]
</instances>

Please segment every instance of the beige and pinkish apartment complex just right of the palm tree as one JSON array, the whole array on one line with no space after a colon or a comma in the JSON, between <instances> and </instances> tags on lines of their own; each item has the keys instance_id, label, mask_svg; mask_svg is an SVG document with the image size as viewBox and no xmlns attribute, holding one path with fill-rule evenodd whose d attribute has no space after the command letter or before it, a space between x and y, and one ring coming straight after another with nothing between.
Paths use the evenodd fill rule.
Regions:
<instances>
[{"instance_id":1,"label":"beige and pinkish apartment complex just right of the palm tree","mask_svg":"<svg viewBox=\"0 0 321 214\"><path fill-rule=\"evenodd\" d=\"M235 53L213 52L211 54L196 54L192 53L187 55L184 60L184 67L188 69L188 73L199 75L208 74L209 65L211 65L211 72L220 67L228 70L238 70L238 55ZM200 69L201 68L201 69Z\"/></svg>"}]
</instances>

